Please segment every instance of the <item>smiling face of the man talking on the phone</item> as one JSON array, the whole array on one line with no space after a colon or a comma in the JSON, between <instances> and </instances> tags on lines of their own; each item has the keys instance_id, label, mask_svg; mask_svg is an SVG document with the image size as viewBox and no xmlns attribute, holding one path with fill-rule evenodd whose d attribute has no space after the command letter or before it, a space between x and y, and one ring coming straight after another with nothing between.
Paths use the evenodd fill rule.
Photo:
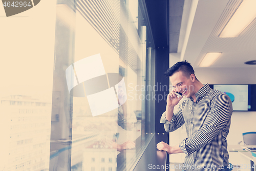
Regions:
<instances>
[{"instance_id":1,"label":"smiling face of the man talking on the phone","mask_svg":"<svg viewBox=\"0 0 256 171\"><path fill-rule=\"evenodd\" d=\"M170 82L173 85L174 91L183 93L186 98L190 98L194 95L194 84L191 75L189 79L187 79L182 74L182 71L179 71L170 76Z\"/></svg>"}]
</instances>

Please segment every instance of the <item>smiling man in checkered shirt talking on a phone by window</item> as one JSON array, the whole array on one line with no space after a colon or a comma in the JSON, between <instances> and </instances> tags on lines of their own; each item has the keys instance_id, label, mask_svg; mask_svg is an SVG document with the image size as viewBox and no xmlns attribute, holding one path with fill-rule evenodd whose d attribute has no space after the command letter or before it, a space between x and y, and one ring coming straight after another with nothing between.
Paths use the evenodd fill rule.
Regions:
<instances>
[{"instance_id":1,"label":"smiling man in checkered shirt talking on a phone by window","mask_svg":"<svg viewBox=\"0 0 256 171\"><path fill-rule=\"evenodd\" d=\"M230 98L208 84L203 85L187 61L176 63L164 74L169 77L173 90L167 96L166 111L160 122L166 132L185 123L187 138L173 147L160 142L157 149L168 154L185 153L183 170L229 170L226 137L232 115ZM182 99L176 96L176 91L186 99L174 113L174 106Z\"/></svg>"}]
</instances>

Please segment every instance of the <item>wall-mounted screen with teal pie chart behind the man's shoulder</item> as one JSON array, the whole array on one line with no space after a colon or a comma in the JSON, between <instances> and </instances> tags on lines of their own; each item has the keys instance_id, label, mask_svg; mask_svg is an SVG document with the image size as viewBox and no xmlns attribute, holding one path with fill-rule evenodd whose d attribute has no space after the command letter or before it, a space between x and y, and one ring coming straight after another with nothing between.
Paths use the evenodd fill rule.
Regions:
<instances>
[{"instance_id":1,"label":"wall-mounted screen with teal pie chart behind the man's shoulder","mask_svg":"<svg viewBox=\"0 0 256 171\"><path fill-rule=\"evenodd\" d=\"M210 88L226 93L234 111L256 111L255 84L214 84Z\"/></svg>"}]
</instances>

